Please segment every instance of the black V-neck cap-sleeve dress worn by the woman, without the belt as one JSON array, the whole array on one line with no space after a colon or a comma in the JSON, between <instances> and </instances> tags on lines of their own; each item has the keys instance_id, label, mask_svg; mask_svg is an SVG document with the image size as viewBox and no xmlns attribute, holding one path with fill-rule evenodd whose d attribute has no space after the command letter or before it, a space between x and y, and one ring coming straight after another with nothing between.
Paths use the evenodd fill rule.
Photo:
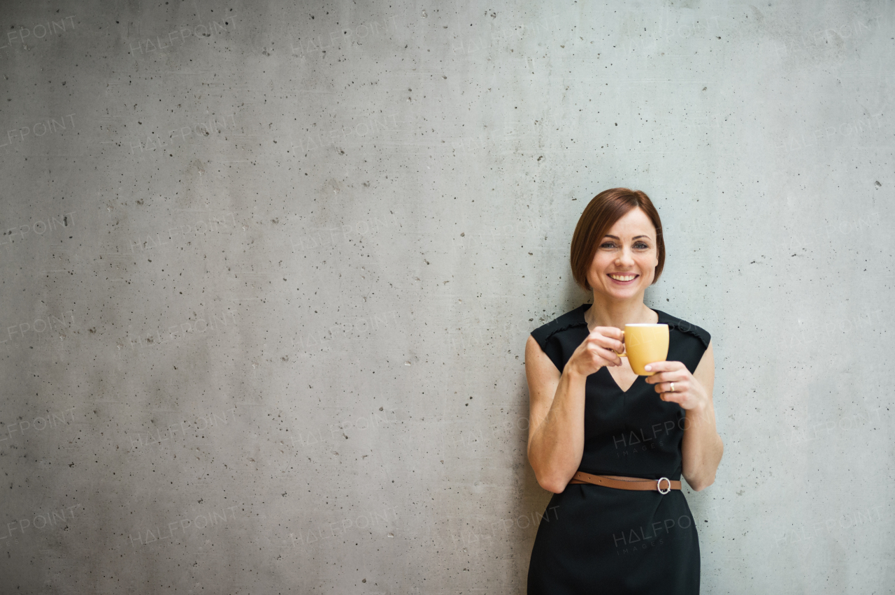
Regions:
<instances>
[{"instance_id":1,"label":"black V-neck cap-sleeve dress worn by the woman, without the belt","mask_svg":"<svg viewBox=\"0 0 895 595\"><path fill-rule=\"evenodd\" d=\"M561 372L587 337L584 304L532 332ZM654 310L669 325L668 361L693 373L709 333ZM621 390L605 367L587 377L584 455L596 475L679 480L684 410L661 400L645 376ZM528 567L528 595L699 593L699 540L681 490L616 490L569 484L541 516Z\"/></svg>"}]
</instances>

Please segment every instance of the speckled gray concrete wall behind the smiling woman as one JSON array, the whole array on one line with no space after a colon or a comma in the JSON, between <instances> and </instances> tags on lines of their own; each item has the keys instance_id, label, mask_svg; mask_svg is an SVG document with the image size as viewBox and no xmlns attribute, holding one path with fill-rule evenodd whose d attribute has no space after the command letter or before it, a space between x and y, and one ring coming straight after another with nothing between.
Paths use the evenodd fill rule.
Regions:
<instances>
[{"instance_id":1,"label":"speckled gray concrete wall behind the smiling woman","mask_svg":"<svg viewBox=\"0 0 895 595\"><path fill-rule=\"evenodd\" d=\"M2 591L524 592L616 186L714 340L703 592L895 584L891 3L0 13Z\"/></svg>"}]
</instances>

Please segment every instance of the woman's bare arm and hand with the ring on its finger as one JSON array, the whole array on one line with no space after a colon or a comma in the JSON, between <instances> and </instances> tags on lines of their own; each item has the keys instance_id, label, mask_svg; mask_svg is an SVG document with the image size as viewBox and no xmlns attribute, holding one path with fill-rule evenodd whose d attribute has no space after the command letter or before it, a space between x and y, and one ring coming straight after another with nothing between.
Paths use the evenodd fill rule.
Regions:
<instances>
[{"instance_id":1,"label":"woman's bare arm and hand with the ring on its finger","mask_svg":"<svg viewBox=\"0 0 895 595\"><path fill-rule=\"evenodd\" d=\"M656 373L646 379L656 385L662 400L678 403L685 410L684 440L681 442L682 472L686 482L696 491L704 490L715 481L715 472L724 443L715 428L715 407L712 389L715 383L715 358L712 342L703 358L690 374L680 362L657 362L647 366ZM674 382L675 392L671 390Z\"/></svg>"}]
</instances>

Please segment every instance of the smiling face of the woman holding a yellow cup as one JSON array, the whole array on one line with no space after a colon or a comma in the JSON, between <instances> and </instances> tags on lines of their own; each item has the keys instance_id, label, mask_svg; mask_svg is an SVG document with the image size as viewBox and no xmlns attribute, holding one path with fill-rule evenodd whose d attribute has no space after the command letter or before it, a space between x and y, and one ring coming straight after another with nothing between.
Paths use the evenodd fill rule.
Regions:
<instances>
[{"instance_id":1,"label":"smiling face of the woman holding a yellow cup","mask_svg":"<svg viewBox=\"0 0 895 595\"><path fill-rule=\"evenodd\" d=\"M631 299L650 286L658 264L656 230L644 211L634 208L601 238L587 281L609 298Z\"/></svg>"}]
</instances>

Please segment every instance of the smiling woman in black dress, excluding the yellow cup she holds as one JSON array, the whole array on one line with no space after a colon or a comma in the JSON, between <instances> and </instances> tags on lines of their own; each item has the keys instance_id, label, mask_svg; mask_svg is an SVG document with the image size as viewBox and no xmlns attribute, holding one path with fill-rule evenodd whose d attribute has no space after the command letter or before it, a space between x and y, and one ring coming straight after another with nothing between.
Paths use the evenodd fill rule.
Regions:
<instances>
[{"instance_id":1,"label":"smiling woman in black dress, excluding the yellow cup she holds","mask_svg":"<svg viewBox=\"0 0 895 595\"><path fill-rule=\"evenodd\" d=\"M699 592L699 542L680 476L715 479L723 444L712 406L709 333L644 305L665 244L643 192L593 197L572 238L575 281L593 304L532 332L528 459L554 492L532 549L528 595ZM669 325L668 361L637 376L622 329Z\"/></svg>"}]
</instances>

